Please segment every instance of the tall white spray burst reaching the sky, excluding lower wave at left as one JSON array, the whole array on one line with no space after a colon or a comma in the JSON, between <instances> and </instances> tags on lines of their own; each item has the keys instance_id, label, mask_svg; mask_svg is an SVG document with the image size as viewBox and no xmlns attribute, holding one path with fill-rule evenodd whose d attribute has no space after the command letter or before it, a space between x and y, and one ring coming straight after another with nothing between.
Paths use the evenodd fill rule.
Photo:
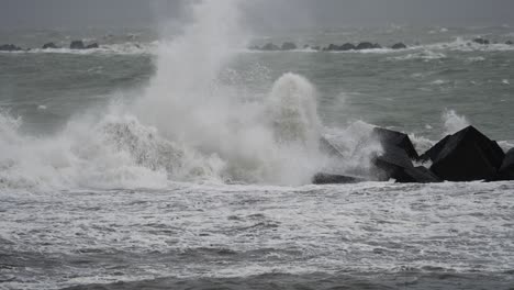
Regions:
<instances>
[{"instance_id":1,"label":"tall white spray burst reaching the sky, excluding lower wave at left","mask_svg":"<svg viewBox=\"0 0 514 290\"><path fill-rule=\"evenodd\" d=\"M224 163L223 180L309 182L319 154L315 90L284 75L266 99L247 101L221 75L247 43L239 1L192 5L192 23L158 48L157 71L133 111L165 138Z\"/></svg>"}]
</instances>

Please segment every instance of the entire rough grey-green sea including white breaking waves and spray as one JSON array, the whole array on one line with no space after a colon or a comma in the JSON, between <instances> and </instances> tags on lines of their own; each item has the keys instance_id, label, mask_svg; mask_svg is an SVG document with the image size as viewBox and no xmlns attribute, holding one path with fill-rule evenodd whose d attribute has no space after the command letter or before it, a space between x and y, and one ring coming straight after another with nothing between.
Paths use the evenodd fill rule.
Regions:
<instances>
[{"instance_id":1,"label":"entire rough grey-green sea including white breaking waves and spray","mask_svg":"<svg viewBox=\"0 0 514 290\"><path fill-rule=\"evenodd\" d=\"M418 152L468 124L511 148L514 27L258 35L242 18L204 1L174 33L0 32L100 43L0 53L0 289L514 288L514 183L310 185L366 175L373 125ZM246 48L286 41L409 48Z\"/></svg>"}]
</instances>

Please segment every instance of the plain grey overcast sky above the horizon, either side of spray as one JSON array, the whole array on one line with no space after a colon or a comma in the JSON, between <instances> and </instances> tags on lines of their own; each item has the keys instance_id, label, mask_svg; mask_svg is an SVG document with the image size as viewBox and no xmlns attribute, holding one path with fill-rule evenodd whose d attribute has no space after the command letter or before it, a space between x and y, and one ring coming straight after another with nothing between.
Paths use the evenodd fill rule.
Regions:
<instances>
[{"instance_id":1,"label":"plain grey overcast sky above the horizon, either side of spray","mask_svg":"<svg viewBox=\"0 0 514 290\"><path fill-rule=\"evenodd\" d=\"M0 27L154 26L195 0L0 0ZM217 0L224 1L224 0ZM245 1L245 0L243 0ZM260 29L514 24L514 0L246 0Z\"/></svg>"}]
</instances>

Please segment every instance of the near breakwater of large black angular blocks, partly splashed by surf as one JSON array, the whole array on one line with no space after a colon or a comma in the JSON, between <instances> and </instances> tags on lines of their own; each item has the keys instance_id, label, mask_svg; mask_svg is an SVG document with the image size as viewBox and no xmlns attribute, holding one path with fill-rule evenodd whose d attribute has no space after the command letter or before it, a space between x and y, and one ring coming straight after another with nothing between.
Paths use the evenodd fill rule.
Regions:
<instances>
[{"instance_id":1,"label":"near breakwater of large black angular blocks, partly splashed by surf","mask_svg":"<svg viewBox=\"0 0 514 290\"><path fill-rule=\"evenodd\" d=\"M418 155L410 137L401 132L376 127L361 143L378 142L381 150L371 156L367 177L317 174L313 183L348 183L362 180L395 182L499 181L514 180L514 149L506 154L495 141L473 126L447 135ZM321 150L331 158L337 155L326 140ZM343 156L339 156L344 161Z\"/></svg>"}]
</instances>

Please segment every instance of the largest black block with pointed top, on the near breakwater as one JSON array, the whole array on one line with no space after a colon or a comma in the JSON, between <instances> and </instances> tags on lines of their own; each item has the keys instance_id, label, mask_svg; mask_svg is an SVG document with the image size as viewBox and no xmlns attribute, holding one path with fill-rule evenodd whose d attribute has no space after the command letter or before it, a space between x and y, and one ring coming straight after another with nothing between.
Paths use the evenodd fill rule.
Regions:
<instances>
[{"instance_id":1,"label":"largest black block with pointed top, on the near breakwater","mask_svg":"<svg viewBox=\"0 0 514 290\"><path fill-rule=\"evenodd\" d=\"M444 180L493 180L505 156L496 142L473 126L468 126L439 143L426 156L432 156L431 170Z\"/></svg>"}]
</instances>

